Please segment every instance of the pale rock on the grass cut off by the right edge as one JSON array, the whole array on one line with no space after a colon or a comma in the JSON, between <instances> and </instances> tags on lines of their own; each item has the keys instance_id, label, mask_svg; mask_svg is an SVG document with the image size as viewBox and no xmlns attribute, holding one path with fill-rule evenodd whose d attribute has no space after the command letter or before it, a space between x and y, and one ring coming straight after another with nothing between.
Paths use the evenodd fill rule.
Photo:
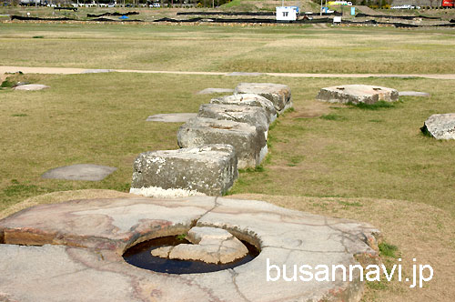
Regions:
<instances>
[{"instance_id":1,"label":"pale rock on the grass cut off by the right edge","mask_svg":"<svg viewBox=\"0 0 455 302\"><path fill-rule=\"evenodd\" d=\"M420 130L436 139L455 139L455 113L432 115Z\"/></svg>"}]
</instances>

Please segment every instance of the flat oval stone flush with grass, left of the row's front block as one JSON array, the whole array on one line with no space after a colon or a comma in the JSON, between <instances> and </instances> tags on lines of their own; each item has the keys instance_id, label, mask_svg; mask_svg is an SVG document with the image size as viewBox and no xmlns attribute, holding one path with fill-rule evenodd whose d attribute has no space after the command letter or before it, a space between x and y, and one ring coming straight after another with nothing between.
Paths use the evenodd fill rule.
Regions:
<instances>
[{"instance_id":1,"label":"flat oval stone flush with grass, left of the row's front block","mask_svg":"<svg viewBox=\"0 0 455 302\"><path fill-rule=\"evenodd\" d=\"M105 179L116 171L113 166L100 166L93 164L77 164L59 166L46 171L41 177L66 180L99 181Z\"/></svg>"}]
</instances>

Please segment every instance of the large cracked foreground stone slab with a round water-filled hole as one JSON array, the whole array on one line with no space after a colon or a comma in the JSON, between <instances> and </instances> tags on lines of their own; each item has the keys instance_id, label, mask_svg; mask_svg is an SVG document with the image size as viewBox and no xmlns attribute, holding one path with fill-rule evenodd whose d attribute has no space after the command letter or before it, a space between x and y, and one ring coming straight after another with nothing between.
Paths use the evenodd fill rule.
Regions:
<instances>
[{"instance_id":1,"label":"large cracked foreground stone slab with a round water-filled hole","mask_svg":"<svg viewBox=\"0 0 455 302\"><path fill-rule=\"evenodd\" d=\"M169 275L132 267L124 248L181 234L193 225L226 229L260 247L252 261L214 273ZM35 206L0 220L0 297L10 301L359 301L352 281L285 281L276 267L363 265L377 259L379 231L265 202L195 196L74 200ZM36 238L43 240L36 242ZM16 244L55 246L26 247ZM268 269L269 268L269 269Z\"/></svg>"}]
</instances>

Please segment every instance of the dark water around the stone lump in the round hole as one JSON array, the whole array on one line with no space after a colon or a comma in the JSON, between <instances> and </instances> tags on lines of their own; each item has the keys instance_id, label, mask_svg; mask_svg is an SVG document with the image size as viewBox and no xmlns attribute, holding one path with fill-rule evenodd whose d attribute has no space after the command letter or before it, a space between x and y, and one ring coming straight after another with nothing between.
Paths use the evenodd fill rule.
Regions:
<instances>
[{"instance_id":1,"label":"dark water around the stone lump in the round hole","mask_svg":"<svg viewBox=\"0 0 455 302\"><path fill-rule=\"evenodd\" d=\"M218 270L238 267L258 257L260 250L245 240L240 242L248 248L246 256L228 263L207 263L200 260L180 260L152 256L152 251L160 247L177 247L178 245L192 245L187 239L181 236L157 237L150 239L133 247L129 247L123 255L126 263L158 273L167 274L200 274L216 272Z\"/></svg>"}]
</instances>

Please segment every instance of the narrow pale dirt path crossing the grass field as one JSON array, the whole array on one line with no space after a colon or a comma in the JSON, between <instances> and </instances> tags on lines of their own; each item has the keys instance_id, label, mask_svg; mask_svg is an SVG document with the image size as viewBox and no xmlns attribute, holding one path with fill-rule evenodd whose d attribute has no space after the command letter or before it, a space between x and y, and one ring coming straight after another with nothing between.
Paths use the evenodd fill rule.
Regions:
<instances>
[{"instance_id":1,"label":"narrow pale dirt path crossing the grass field","mask_svg":"<svg viewBox=\"0 0 455 302\"><path fill-rule=\"evenodd\" d=\"M96 72L97 69L86 68L66 68L66 67L25 67L25 66L0 66L0 75L5 73L15 73L21 71L25 74L61 74L75 75ZM102 69L99 69L102 70ZM106 70L106 69L104 69ZM162 71L162 70L128 70L128 69L109 69L119 73L142 73L142 74L174 74L174 75L201 75L201 76L252 76L251 73L230 73L230 72L204 72L204 71ZM285 77L423 77L431 79L455 80L455 74L448 75L423 75L423 74L296 74L296 73L257 73L254 76L285 76Z\"/></svg>"}]
</instances>

